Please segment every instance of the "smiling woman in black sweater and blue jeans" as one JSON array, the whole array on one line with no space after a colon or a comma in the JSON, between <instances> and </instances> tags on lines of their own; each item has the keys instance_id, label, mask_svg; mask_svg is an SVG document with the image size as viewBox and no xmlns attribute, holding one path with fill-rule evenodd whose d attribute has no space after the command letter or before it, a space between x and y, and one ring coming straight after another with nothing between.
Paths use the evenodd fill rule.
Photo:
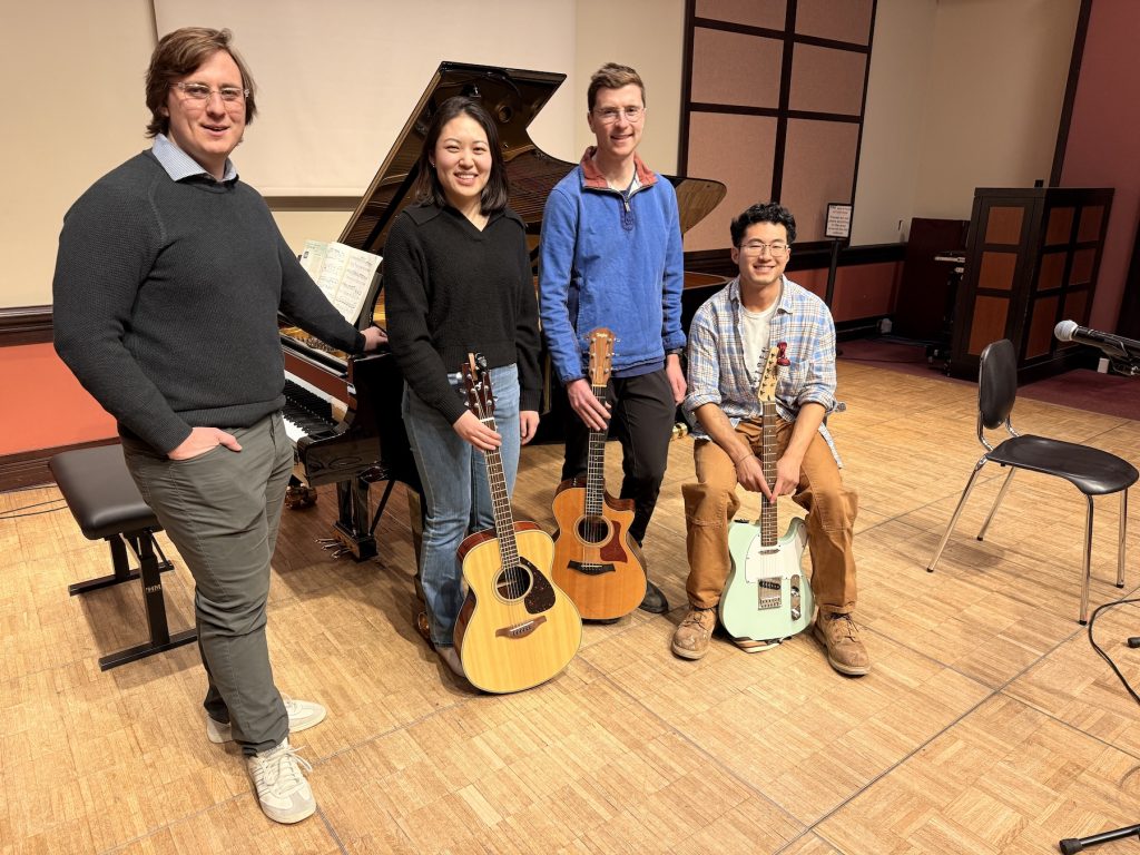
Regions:
<instances>
[{"instance_id":1,"label":"smiling woman in black sweater and blue jeans","mask_svg":"<svg viewBox=\"0 0 1140 855\"><path fill-rule=\"evenodd\" d=\"M511 491L520 446L538 427L538 312L526 227L507 207L498 131L483 107L445 101L418 165L418 204L397 218L385 246L385 307L426 499L420 581L431 641L462 674L456 552L469 531L494 524L482 451L500 449ZM498 432L464 406L459 368L469 352L490 368Z\"/></svg>"}]
</instances>

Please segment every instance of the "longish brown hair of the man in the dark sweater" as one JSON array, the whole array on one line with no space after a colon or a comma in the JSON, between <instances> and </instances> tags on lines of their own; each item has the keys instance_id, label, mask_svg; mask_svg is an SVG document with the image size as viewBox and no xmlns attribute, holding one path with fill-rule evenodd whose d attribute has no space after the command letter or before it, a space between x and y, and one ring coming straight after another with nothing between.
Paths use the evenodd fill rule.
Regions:
<instances>
[{"instance_id":1,"label":"longish brown hair of the man in the dark sweater","mask_svg":"<svg viewBox=\"0 0 1140 855\"><path fill-rule=\"evenodd\" d=\"M150 57L150 67L146 72L146 106L150 111L150 123L146 127L146 136L154 137L170 131L170 116L163 115L162 108L166 105L166 92L171 84L192 74L219 50L229 54L242 72L242 87L250 91L245 96L245 123L250 124L253 121L258 112L258 104L254 100L256 87L245 62L230 46L233 39L234 34L229 30L210 30L202 26L182 27L162 36Z\"/></svg>"}]
</instances>

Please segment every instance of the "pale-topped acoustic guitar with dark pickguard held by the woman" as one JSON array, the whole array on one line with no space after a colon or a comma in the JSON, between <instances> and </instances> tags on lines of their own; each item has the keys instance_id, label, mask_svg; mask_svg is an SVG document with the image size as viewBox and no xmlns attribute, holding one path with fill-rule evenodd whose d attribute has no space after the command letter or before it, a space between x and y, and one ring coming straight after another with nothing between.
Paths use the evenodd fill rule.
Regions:
<instances>
[{"instance_id":1,"label":"pale-topped acoustic guitar with dark pickguard held by the woman","mask_svg":"<svg viewBox=\"0 0 1140 855\"><path fill-rule=\"evenodd\" d=\"M463 365L467 406L495 430L495 399L482 357ZM469 535L458 557L467 596L455 625L463 673L477 689L503 694L544 683L581 644L581 618L549 579L554 544L534 522L515 522L503 456L484 451L495 528Z\"/></svg>"}]
</instances>

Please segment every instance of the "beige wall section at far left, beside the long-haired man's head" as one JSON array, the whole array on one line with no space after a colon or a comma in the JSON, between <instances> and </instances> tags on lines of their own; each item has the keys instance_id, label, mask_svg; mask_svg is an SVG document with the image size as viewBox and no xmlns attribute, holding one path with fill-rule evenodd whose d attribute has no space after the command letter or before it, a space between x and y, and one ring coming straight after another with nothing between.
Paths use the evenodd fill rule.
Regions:
<instances>
[{"instance_id":1,"label":"beige wall section at far left, beside the long-haired man's head","mask_svg":"<svg viewBox=\"0 0 1140 855\"><path fill-rule=\"evenodd\" d=\"M103 173L149 147L139 93L154 49L148 0L6 2L0 306L51 302L64 213Z\"/></svg>"}]
</instances>

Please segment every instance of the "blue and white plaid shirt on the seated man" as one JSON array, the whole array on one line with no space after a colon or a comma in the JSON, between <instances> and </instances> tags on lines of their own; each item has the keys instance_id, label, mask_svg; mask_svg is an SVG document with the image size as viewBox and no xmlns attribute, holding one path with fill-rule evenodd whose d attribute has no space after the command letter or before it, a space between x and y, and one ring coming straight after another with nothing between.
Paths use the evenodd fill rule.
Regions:
<instances>
[{"instance_id":1,"label":"blue and white plaid shirt on the seated man","mask_svg":"<svg viewBox=\"0 0 1140 855\"><path fill-rule=\"evenodd\" d=\"M783 277L780 302L772 316L769 342L787 342L791 365L776 382L776 413L795 422L805 404L820 404L830 414L836 402L836 326L826 304L815 294ZM716 404L735 427L741 420L759 418L759 377L744 365L740 337L740 279L733 279L709 298L689 327L689 394L684 412L693 435L708 439L693 413ZM826 423L820 433L842 465Z\"/></svg>"}]
</instances>

